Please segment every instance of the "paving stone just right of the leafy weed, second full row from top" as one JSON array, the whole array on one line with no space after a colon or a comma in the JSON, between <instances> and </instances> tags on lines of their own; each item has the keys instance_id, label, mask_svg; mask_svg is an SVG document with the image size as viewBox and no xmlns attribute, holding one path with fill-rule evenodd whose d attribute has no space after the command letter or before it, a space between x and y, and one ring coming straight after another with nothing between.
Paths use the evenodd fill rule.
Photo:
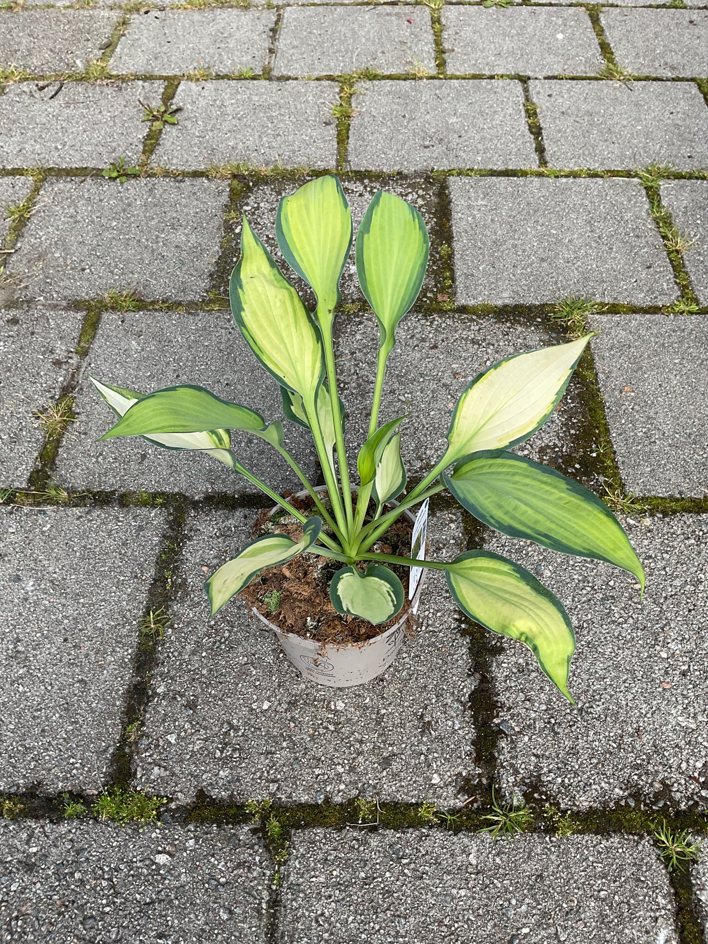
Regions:
<instances>
[{"instance_id":1,"label":"paving stone just right of the leafy weed, second full row from top","mask_svg":"<svg viewBox=\"0 0 708 944\"><path fill-rule=\"evenodd\" d=\"M162 135L153 163L187 170L237 161L334 167L338 101L334 82L181 82L177 133Z\"/></svg>"}]
</instances>

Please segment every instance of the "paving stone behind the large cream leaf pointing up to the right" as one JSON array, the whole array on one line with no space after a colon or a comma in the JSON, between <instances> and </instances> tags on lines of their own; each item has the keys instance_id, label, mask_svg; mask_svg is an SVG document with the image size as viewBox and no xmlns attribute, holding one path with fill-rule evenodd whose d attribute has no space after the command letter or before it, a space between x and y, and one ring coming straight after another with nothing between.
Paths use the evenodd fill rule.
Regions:
<instances>
[{"instance_id":1,"label":"paving stone behind the large cream leaf pointing up to the right","mask_svg":"<svg viewBox=\"0 0 708 944\"><path fill-rule=\"evenodd\" d=\"M558 343L540 325L528 327L489 317L411 313L396 329L396 347L388 362L380 422L406 413L401 425L403 462L413 479L421 478L447 447L452 409L464 388L480 371L512 354ZM347 406L346 433L350 456L366 438L374 392L379 329L372 315L348 315L337 323L337 349L343 356L338 377ZM552 465L570 462L573 433L582 422L577 393L569 388L565 409L520 450ZM352 469L352 472L354 469Z\"/></svg>"}]
</instances>

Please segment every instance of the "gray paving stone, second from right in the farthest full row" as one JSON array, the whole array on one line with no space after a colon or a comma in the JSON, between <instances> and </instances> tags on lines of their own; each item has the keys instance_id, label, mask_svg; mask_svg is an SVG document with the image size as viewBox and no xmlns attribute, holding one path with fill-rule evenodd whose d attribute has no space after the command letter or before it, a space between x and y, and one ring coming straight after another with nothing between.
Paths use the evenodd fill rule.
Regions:
<instances>
[{"instance_id":1,"label":"gray paving stone, second from right in the farthest full row","mask_svg":"<svg viewBox=\"0 0 708 944\"><path fill-rule=\"evenodd\" d=\"M594 76L602 67L582 9L445 6L442 20L450 75Z\"/></svg>"}]
</instances>

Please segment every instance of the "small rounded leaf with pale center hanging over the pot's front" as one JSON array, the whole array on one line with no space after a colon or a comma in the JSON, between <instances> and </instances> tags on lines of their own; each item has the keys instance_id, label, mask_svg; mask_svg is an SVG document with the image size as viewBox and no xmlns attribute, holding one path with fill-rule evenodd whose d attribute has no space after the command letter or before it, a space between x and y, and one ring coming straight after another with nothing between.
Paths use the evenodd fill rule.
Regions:
<instances>
[{"instance_id":1,"label":"small rounded leaf with pale center hanging over the pot's front","mask_svg":"<svg viewBox=\"0 0 708 944\"><path fill-rule=\"evenodd\" d=\"M329 599L337 613L359 616L374 626L399 613L404 597L396 574L380 564L369 565L365 574L354 566L342 567L329 584Z\"/></svg>"}]
</instances>

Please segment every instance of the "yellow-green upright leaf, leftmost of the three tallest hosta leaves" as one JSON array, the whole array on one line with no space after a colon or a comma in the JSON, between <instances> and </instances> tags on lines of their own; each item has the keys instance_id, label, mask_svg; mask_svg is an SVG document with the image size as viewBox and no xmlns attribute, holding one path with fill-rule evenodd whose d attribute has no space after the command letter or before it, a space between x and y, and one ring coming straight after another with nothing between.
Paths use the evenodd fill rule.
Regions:
<instances>
[{"instance_id":1,"label":"yellow-green upright leaf, leftmost of the three tallest hosta leaves","mask_svg":"<svg viewBox=\"0 0 708 944\"><path fill-rule=\"evenodd\" d=\"M312 405L325 373L318 330L245 217L241 251L228 284L234 320L268 373Z\"/></svg>"}]
</instances>

